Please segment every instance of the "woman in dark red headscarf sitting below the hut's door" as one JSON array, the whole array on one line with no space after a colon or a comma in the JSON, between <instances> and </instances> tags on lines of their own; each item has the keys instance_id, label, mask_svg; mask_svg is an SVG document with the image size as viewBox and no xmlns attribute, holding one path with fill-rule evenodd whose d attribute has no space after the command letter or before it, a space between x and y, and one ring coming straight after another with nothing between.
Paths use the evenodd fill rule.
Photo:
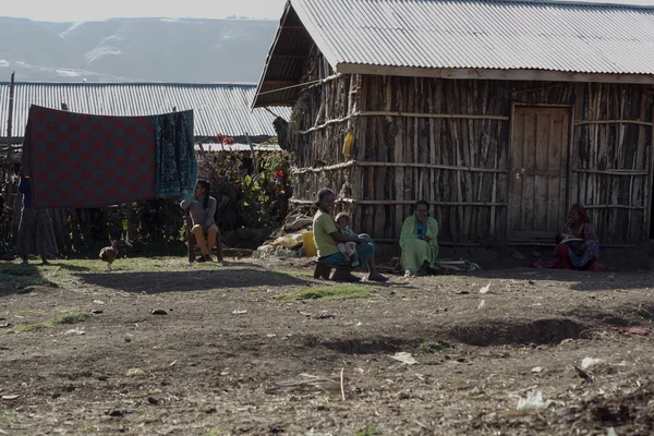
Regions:
<instances>
[{"instance_id":1,"label":"woman in dark red headscarf sitting below the hut's door","mask_svg":"<svg viewBox=\"0 0 654 436\"><path fill-rule=\"evenodd\" d=\"M600 270L600 243L583 206L576 204L568 214L564 229L555 237L556 257L550 262L535 262L536 268Z\"/></svg>"}]
</instances>

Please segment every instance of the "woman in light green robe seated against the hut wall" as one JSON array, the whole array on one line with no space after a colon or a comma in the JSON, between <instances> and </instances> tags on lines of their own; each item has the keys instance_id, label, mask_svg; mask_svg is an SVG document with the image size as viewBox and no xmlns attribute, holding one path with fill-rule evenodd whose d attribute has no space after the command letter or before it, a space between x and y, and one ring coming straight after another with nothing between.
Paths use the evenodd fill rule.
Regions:
<instances>
[{"instance_id":1,"label":"woman in light green robe seated against the hut wall","mask_svg":"<svg viewBox=\"0 0 654 436\"><path fill-rule=\"evenodd\" d=\"M400 234L402 269L404 276L424 275L434 267L438 256L438 222L429 217L429 204L424 199L415 203L414 214L404 220Z\"/></svg>"}]
</instances>

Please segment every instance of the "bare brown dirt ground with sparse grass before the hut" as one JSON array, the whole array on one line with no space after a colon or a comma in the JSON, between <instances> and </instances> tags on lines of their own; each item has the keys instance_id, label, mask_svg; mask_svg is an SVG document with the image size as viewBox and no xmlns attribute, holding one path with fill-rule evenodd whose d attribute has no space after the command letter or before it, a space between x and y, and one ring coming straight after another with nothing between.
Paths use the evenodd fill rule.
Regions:
<instances>
[{"instance_id":1,"label":"bare brown dirt ground with sparse grass before the hut","mask_svg":"<svg viewBox=\"0 0 654 436\"><path fill-rule=\"evenodd\" d=\"M654 434L650 271L114 267L0 264L0 435Z\"/></svg>"}]
</instances>

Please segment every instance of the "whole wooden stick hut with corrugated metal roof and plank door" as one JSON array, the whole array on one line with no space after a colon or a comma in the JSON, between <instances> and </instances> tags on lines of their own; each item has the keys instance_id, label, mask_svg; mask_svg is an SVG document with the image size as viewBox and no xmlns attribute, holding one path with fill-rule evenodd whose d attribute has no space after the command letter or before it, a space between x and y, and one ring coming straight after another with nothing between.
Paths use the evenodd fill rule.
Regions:
<instances>
[{"instance_id":1,"label":"whole wooden stick hut with corrugated metal roof and plank door","mask_svg":"<svg viewBox=\"0 0 654 436\"><path fill-rule=\"evenodd\" d=\"M293 107L292 201L330 186L376 241L424 198L455 245L550 242L573 203L631 244L652 232L652 53L646 7L290 0L253 107Z\"/></svg>"}]
</instances>

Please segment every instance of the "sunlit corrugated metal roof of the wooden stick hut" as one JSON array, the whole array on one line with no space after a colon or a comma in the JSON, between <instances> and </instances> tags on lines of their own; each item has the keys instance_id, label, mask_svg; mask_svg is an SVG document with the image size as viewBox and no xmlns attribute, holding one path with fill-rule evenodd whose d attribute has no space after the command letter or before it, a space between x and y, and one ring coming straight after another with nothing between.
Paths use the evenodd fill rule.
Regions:
<instances>
[{"instance_id":1,"label":"sunlit corrugated metal roof of the wooden stick hut","mask_svg":"<svg viewBox=\"0 0 654 436\"><path fill-rule=\"evenodd\" d=\"M484 0L291 0L328 61L654 74L654 9Z\"/></svg>"}]
</instances>

